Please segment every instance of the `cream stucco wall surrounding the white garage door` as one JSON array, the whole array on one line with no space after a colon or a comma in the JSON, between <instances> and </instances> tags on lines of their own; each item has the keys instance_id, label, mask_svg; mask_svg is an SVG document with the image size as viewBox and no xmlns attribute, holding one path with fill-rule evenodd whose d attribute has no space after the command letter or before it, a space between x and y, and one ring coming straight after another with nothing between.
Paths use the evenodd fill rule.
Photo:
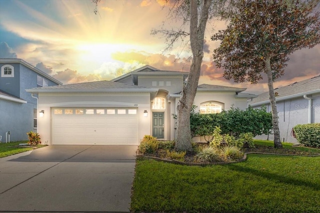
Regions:
<instances>
[{"instance_id":1,"label":"cream stucco wall surrounding the white garage door","mask_svg":"<svg viewBox=\"0 0 320 213\"><path fill-rule=\"evenodd\" d=\"M51 108L52 107L137 107L138 139L150 135L150 94L149 93L72 93L72 94L39 94L39 109L44 116L38 119L38 133L42 141L51 144ZM147 110L148 117L143 116Z\"/></svg>"}]
</instances>

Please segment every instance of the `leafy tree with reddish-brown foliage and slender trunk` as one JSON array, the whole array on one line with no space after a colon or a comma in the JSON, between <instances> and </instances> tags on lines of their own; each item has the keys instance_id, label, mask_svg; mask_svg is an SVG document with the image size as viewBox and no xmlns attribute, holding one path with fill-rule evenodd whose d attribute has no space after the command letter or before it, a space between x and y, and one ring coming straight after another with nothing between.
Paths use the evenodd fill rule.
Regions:
<instances>
[{"instance_id":1,"label":"leafy tree with reddish-brown foliage and slender trunk","mask_svg":"<svg viewBox=\"0 0 320 213\"><path fill-rule=\"evenodd\" d=\"M320 43L318 0L236 0L229 20L212 40L220 40L213 59L224 78L257 83L266 73L274 147L282 147L273 81L284 74L289 55ZM298 70L299 72L302 70Z\"/></svg>"}]
</instances>

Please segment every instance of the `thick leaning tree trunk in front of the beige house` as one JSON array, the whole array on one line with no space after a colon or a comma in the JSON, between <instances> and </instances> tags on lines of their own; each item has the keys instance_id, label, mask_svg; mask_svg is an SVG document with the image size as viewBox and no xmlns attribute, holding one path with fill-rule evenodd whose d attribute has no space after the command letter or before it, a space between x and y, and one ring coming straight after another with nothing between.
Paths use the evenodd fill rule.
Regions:
<instances>
[{"instance_id":1,"label":"thick leaning tree trunk in front of the beige house","mask_svg":"<svg viewBox=\"0 0 320 213\"><path fill-rule=\"evenodd\" d=\"M211 0L201 1L201 13L198 18L198 1L190 1L190 45L192 63L187 82L183 84L180 100L177 104L176 151L192 151L190 132L190 111L194 101L196 88L200 76L203 58L203 40L208 10Z\"/></svg>"}]
</instances>

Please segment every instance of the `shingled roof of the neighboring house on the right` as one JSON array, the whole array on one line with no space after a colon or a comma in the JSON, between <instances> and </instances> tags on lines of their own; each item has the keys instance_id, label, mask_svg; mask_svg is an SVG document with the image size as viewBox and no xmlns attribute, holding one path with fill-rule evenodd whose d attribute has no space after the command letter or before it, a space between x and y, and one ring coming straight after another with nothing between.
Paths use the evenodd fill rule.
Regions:
<instances>
[{"instance_id":1,"label":"shingled roof of the neighboring house on the right","mask_svg":"<svg viewBox=\"0 0 320 213\"><path fill-rule=\"evenodd\" d=\"M277 96L275 97L276 101L320 93L320 75L294 82L287 86L275 88L274 92L277 92ZM258 97L253 98L250 105L256 106L265 103L269 103L269 92L261 93Z\"/></svg>"}]
</instances>

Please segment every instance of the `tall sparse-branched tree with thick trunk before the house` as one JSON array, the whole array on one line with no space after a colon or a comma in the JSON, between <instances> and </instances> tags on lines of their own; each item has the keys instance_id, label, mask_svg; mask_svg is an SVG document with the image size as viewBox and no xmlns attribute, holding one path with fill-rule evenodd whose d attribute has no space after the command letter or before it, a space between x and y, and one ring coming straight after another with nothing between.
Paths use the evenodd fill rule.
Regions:
<instances>
[{"instance_id":1,"label":"tall sparse-branched tree with thick trunk before the house","mask_svg":"<svg viewBox=\"0 0 320 213\"><path fill-rule=\"evenodd\" d=\"M168 0L167 0L168 2ZM191 132L190 132L190 111L194 96L196 93L200 68L203 58L204 32L207 20L213 17L214 8L218 3L222 5L224 0L176 0L171 5L171 18L180 18L182 20L181 28L178 29L153 29L151 34L162 34L166 38L167 46L165 49L171 49L174 43L185 37L191 47L192 61L189 69L187 81L183 84L181 97L177 103L176 117L176 140L175 150L192 151ZM183 27L189 24L189 29ZM184 42L184 45L186 43Z\"/></svg>"}]
</instances>

